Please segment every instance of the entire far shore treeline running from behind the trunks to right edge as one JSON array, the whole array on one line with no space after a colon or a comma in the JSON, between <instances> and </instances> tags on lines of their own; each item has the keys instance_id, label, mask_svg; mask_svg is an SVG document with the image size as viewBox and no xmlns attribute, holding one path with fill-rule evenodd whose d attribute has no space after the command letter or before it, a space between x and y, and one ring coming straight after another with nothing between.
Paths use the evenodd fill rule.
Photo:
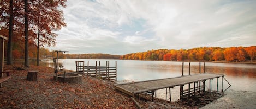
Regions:
<instances>
[{"instance_id":1,"label":"entire far shore treeline running from behind the trunks to right edge","mask_svg":"<svg viewBox=\"0 0 256 109\"><path fill-rule=\"evenodd\" d=\"M36 60L36 48L30 49L29 58ZM55 51L40 48L40 59L56 57ZM14 60L23 59L19 50L13 51ZM123 59L123 60L163 60L163 61L228 61L249 62L256 59L256 46L251 47L200 47L192 49L158 49L147 52L130 53L126 55L111 55L102 53L91 54L58 54L59 59Z\"/></svg>"}]
</instances>

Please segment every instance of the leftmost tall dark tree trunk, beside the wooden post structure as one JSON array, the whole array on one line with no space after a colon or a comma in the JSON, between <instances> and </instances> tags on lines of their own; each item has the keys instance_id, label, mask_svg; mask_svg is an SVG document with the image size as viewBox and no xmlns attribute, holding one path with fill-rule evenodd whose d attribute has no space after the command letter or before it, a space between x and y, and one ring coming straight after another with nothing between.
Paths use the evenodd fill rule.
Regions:
<instances>
[{"instance_id":1,"label":"leftmost tall dark tree trunk, beside the wooden post structure","mask_svg":"<svg viewBox=\"0 0 256 109\"><path fill-rule=\"evenodd\" d=\"M13 65L13 0L10 0L9 39L7 46L7 65Z\"/></svg>"}]
</instances>

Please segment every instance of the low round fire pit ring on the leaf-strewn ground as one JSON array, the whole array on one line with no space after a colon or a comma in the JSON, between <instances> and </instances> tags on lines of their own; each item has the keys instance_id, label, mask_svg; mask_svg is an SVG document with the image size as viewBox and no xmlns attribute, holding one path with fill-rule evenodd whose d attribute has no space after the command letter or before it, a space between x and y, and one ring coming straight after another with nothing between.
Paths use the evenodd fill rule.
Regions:
<instances>
[{"instance_id":1,"label":"low round fire pit ring on the leaf-strewn ground","mask_svg":"<svg viewBox=\"0 0 256 109\"><path fill-rule=\"evenodd\" d=\"M53 76L53 79L56 80L56 75ZM58 81L68 83L79 83L82 82L82 75L77 73L65 73L64 78L64 74L58 74Z\"/></svg>"}]
</instances>

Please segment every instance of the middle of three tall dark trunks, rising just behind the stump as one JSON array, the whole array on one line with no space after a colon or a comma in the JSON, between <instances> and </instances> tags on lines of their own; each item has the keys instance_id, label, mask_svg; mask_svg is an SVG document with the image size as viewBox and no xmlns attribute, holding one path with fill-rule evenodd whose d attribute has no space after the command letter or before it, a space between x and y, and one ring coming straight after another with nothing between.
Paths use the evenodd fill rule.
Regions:
<instances>
[{"instance_id":1,"label":"middle of three tall dark trunks, rising just behind the stump","mask_svg":"<svg viewBox=\"0 0 256 109\"><path fill-rule=\"evenodd\" d=\"M24 0L25 4L25 63L24 66L29 67L28 62L28 0Z\"/></svg>"}]
</instances>

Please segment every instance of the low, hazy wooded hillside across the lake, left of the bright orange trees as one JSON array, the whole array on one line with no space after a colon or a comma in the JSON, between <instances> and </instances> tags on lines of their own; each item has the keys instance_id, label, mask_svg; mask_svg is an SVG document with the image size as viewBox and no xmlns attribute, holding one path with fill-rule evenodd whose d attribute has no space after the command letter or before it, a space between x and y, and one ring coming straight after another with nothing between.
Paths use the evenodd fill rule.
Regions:
<instances>
[{"instance_id":1,"label":"low, hazy wooded hillside across the lake, left of the bright orange trees","mask_svg":"<svg viewBox=\"0 0 256 109\"><path fill-rule=\"evenodd\" d=\"M93 54L65 54L67 59L120 59L121 55L111 55L102 53Z\"/></svg>"}]
</instances>

